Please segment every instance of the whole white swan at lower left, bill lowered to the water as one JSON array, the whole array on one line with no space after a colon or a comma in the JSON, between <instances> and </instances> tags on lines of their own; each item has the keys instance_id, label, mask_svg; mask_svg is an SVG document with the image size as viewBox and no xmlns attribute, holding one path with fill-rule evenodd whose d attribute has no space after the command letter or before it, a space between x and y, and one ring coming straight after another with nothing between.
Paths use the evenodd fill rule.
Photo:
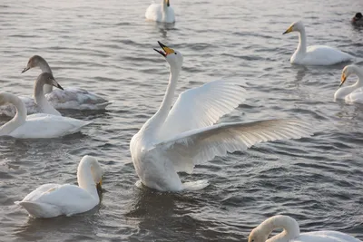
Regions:
<instances>
[{"instance_id":1,"label":"whole white swan at lower left, bill lowered to the water","mask_svg":"<svg viewBox=\"0 0 363 242\"><path fill-rule=\"evenodd\" d=\"M78 186L71 184L44 184L21 201L21 205L34 218L71 216L91 210L100 203L102 168L92 156L84 156L78 165Z\"/></svg>"}]
</instances>

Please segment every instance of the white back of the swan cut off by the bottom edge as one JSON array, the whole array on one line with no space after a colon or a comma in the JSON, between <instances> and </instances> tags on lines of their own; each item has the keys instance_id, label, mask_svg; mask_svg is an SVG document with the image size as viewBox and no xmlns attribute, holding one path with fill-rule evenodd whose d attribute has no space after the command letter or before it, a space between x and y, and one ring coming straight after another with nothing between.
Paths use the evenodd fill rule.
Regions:
<instances>
[{"instance_id":1,"label":"white back of the swan cut off by the bottom edge","mask_svg":"<svg viewBox=\"0 0 363 242\"><path fill-rule=\"evenodd\" d=\"M338 231L316 231L301 233L291 242L362 242L356 237Z\"/></svg>"}]
</instances>

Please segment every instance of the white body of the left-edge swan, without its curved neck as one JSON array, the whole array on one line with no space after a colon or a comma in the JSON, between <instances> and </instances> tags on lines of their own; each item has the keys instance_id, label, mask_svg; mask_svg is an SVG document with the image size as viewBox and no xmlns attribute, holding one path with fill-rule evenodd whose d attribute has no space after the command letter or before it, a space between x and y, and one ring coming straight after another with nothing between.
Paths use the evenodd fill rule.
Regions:
<instances>
[{"instance_id":1,"label":"white body of the left-edge swan, without its curved neck","mask_svg":"<svg viewBox=\"0 0 363 242\"><path fill-rule=\"evenodd\" d=\"M22 139L56 138L80 131L89 123L91 121L37 113L28 115L25 123L9 135Z\"/></svg>"}]
</instances>

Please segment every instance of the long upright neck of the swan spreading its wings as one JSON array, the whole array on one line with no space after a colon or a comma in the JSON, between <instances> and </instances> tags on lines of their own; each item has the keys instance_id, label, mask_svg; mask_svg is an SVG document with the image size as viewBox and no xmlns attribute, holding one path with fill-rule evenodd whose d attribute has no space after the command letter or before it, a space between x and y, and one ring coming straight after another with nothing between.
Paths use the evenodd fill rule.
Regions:
<instances>
[{"instance_id":1,"label":"long upright neck of the swan spreading its wings","mask_svg":"<svg viewBox=\"0 0 363 242\"><path fill-rule=\"evenodd\" d=\"M178 82L180 72L180 68L171 65L169 84L162 100L162 105L160 106L159 110L156 111L156 113L152 116L152 118L144 124L144 126L142 127L144 131L151 131L153 134L155 134L162 127L163 122L168 117L169 111L172 108L172 100L174 98L176 83Z\"/></svg>"}]
</instances>

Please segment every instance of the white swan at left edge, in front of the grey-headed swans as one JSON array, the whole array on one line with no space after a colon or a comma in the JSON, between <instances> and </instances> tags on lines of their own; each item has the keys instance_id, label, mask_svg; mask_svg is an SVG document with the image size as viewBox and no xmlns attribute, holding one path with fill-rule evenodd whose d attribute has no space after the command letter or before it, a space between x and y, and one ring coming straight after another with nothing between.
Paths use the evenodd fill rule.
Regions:
<instances>
[{"instance_id":1,"label":"white swan at left edge, in front of the grey-headed swans","mask_svg":"<svg viewBox=\"0 0 363 242\"><path fill-rule=\"evenodd\" d=\"M42 73L40 78L52 78L51 73ZM0 105L11 103L15 106L15 117L0 127L0 136L20 139L56 138L80 131L91 121L80 121L59 115L35 113L26 116L24 102L7 92L0 93Z\"/></svg>"}]
</instances>

